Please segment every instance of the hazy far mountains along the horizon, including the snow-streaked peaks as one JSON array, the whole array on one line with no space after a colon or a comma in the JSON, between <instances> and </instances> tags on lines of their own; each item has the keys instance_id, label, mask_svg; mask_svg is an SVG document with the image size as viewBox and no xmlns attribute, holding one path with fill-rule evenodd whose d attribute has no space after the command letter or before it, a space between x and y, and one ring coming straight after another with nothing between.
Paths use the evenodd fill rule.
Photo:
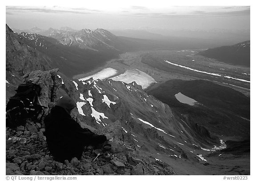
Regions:
<instances>
[{"instance_id":1,"label":"hazy far mountains along the horizon, including the snow-streaked peaks","mask_svg":"<svg viewBox=\"0 0 256 181\"><path fill-rule=\"evenodd\" d=\"M149 32L147 30L104 30L98 28L94 31L89 29L75 30L69 27L60 29L49 28L43 30L37 27L20 30L14 29L16 33L36 33L55 38L66 46L91 49L94 51L136 51L148 48L169 48L175 50L205 49L208 47L219 47L225 43L236 42L235 38L223 39L212 36L190 36L190 31L180 34L180 31L168 31L163 34ZM167 31L167 30L166 30ZM194 31L193 31L194 32ZM167 34L166 34L167 33ZM214 33L213 33L214 34ZM243 39L243 38L240 38Z\"/></svg>"}]
</instances>

